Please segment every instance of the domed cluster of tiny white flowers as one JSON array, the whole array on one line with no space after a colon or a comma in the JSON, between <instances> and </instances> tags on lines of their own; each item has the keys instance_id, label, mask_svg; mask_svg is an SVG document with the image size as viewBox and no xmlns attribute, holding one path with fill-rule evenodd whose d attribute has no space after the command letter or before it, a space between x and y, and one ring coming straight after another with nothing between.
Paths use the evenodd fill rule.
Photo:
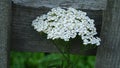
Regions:
<instances>
[{"instance_id":1,"label":"domed cluster of tiny white flowers","mask_svg":"<svg viewBox=\"0 0 120 68\"><path fill-rule=\"evenodd\" d=\"M94 37L97 34L94 25L94 20L86 16L86 12L60 7L51 9L46 15L39 16L32 22L34 29L47 34L47 39L60 38L69 41L79 35L85 45L100 45L100 38Z\"/></svg>"}]
</instances>

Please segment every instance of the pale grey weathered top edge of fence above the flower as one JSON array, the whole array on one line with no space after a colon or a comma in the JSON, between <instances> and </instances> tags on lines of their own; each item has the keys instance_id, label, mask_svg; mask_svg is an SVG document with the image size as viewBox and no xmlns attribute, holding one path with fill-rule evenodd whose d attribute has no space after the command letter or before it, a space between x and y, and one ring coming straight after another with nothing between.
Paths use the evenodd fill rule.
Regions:
<instances>
[{"instance_id":1,"label":"pale grey weathered top edge of fence above the flower","mask_svg":"<svg viewBox=\"0 0 120 68\"><path fill-rule=\"evenodd\" d=\"M104 10L107 0L12 0L15 4L30 7L74 7L77 9Z\"/></svg>"}]
</instances>

